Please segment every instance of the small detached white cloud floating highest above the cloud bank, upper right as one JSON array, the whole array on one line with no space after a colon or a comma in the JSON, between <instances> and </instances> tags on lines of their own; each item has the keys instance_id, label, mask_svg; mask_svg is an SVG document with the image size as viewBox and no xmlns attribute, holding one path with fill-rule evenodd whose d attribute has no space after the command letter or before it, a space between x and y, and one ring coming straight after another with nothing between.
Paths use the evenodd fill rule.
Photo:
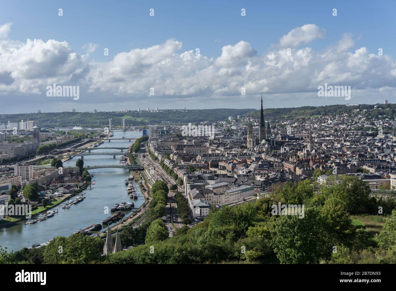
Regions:
<instances>
[{"instance_id":1,"label":"small detached white cloud floating highest above the cloud bank, upper right","mask_svg":"<svg viewBox=\"0 0 396 291\"><path fill-rule=\"evenodd\" d=\"M279 44L284 48L294 48L304 43L307 44L316 38L324 38L326 34L325 29L320 29L314 24L306 24L301 27L296 27L280 38Z\"/></svg>"}]
</instances>

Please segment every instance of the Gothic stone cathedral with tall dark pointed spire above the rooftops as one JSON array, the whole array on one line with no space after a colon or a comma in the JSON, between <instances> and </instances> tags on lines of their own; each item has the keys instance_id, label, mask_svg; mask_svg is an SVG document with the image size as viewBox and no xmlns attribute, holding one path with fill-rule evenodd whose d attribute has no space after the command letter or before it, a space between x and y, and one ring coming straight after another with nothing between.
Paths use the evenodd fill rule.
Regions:
<instances>
[{"instance_id":1,"label":"Gothic stone cathedral with tall dark pointed spire above the rooftops","mask_svg":"<svg viewBox=\"0 0 396 291\"><path fill-rule=\"evenodd\" d=\"M271 152L271 150L275 146L275 140L271 139L270 123L267 122L267 126L265 125L263 112L263 96L261 96L259 136L257 139L255 139L253 135L253 125L249 123L247 125L247 148L249 150L255 150L256 152Z\"/></svg>"}]
</instances>

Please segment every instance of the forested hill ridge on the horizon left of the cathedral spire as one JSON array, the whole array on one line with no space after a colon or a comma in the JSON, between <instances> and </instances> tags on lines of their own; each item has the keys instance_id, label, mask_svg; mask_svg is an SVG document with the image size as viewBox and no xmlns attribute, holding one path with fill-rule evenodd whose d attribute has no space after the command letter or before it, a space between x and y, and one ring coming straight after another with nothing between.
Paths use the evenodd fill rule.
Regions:
<instances>
[{"instance_id":1,"label":"forested hill ridge on the horizon left of the cathedral spire","mask_svg":"<svg viewBox=\"0 0 396 291\"><path fill-rule=\"evenodd\" d=\"M20 122L21 120L34 120L41 126L75 126L77 123L83 127L105 126L112 118L113 126L120 126L122 119L131 126L161 124L170 121L187 124L189 122L215 122L228 120L228 116L236 117L245 115L255 109L191 109L191 110L160 110L159 112L130 111L130 112L44 112L26 114L0 114L0 123Z\"/></svg>"}]
</instances>

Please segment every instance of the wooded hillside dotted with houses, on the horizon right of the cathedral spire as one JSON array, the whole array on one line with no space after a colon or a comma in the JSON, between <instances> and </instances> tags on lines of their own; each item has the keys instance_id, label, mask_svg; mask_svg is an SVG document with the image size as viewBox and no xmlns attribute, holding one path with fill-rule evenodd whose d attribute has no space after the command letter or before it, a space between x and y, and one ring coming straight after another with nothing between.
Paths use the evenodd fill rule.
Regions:
<instances>
[{"instance_id":1,"label":"wooded hillside dotted with houses, on the horizon right of the cathedral spire","mask_svg":"<svg viewBox=\"0 0 396 291\"><path fill-rule=\"evenodd\" d=\"M356 110L369 118L395 118L396 104L379 104L379 105L327 105L327 106L303 106L291 108L266 108L264 109L264 118L266 120L274 119L292 119L296 117L309 117L309 116L335 116L341 114L352 115ZM247 113L247 116L253 118L260 118L260 110Z\"/></svg>"}]
</instances>

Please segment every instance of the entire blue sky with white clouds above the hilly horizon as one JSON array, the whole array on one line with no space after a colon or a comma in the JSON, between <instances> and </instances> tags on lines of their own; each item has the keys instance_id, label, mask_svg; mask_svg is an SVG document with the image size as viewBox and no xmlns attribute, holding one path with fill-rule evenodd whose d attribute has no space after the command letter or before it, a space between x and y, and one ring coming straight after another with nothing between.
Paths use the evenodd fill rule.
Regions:
<instances>
[{"instance_id":1,"label":"entire blue sky with white clouds above the hilly horizon","mask_svg":"<svg viewBox=\"0 0 396 291\"><path fill-rule=\"evenodd\" d=\"M395 3L6 1L0 113L395 103Z\"/></svg>"}]
</instances>

